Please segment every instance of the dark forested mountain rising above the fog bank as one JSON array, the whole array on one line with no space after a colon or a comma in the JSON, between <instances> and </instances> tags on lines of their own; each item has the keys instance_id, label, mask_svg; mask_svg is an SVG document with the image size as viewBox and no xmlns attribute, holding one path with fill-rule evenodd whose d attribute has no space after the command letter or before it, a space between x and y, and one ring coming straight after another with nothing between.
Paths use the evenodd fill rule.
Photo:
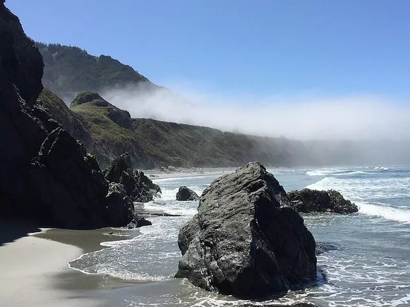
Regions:
<instances>
[{"instance_id":1,"label":"dark forested mountain rising above the fog bank","mask_svg":"<svg viewBox=\"0 0 410 307\"><path fill-rule=\"evenodd\" d=\"M43 84L70 102L78 92L99 92L116 86L159 86L129 65L110 56L93 56L78 47L36 42L44 59Z\"/></svg>"}]
</instances>

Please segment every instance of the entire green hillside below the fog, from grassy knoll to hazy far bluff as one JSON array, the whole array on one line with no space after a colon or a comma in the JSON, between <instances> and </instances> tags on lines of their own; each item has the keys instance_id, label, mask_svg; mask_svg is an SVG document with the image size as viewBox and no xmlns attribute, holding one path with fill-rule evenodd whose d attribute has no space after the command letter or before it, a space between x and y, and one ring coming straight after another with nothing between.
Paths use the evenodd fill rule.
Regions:
<instances>
[{"instance_id":1,"label":"entire green hillside below the fog, from grassy knoll to hazy far bluff","mask_svg":"<svg viewBox=\"0 0 410 307\"><path fill-rule=\"evenodd\" d=\"M239 166L260 161L269 166L299 165L308 157L301 142L262 138L218 129L132 119L127 111L96 93L83 92L70 108L45 89L39 102L71 135L83 142L100 165L129 152L133 166Z\"/></svg>"}]
</instances>

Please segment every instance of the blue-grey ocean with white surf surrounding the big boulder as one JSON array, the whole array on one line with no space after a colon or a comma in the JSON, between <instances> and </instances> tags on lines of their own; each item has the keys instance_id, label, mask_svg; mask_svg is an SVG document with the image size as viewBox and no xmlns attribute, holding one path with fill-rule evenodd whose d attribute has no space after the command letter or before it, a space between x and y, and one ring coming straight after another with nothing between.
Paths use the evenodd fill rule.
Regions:
<instances>
[{"instance_id":1,"label":"blue-grey ocean with white surf surrounding the big boulder","mask_svg":"<svg viewBox=\"0 0 410 307\"><path fill-rule=\"evenodd\" d=\"M269 169L286 191L335 189L359 207L359 213L302 214L317 242L334 250L318 256L315 287L255 305L307 301L333 306L410 306L410 167L368 166L320 169ZM105 249L69 262L72 269L139 282L111 290L117 306L244 306L249 303L193 287L175 279L181 256L179 229L196 213L197 202L177 202L182 185L200 194L217 176L158 179L161 198L138 204L152 226L111 229L127 239L103 242ZM129 238L131 236L131 238ZM119 299L118 299L119 298Z\"/></svg>"}]
</instances>

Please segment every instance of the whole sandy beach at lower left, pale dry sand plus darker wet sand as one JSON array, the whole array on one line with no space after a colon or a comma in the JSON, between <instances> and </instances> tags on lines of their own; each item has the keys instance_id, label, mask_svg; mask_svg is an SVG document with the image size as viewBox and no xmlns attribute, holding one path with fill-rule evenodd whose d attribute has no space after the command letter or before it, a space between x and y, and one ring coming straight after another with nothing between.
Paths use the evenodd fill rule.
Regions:
<instances>
[{"instance_id":1,"label":"whole sandy beach at lower left, pale dry sand plus darker wet sand","mask_svg":"<svg viewBox=\"0 0 410 307\"><path fill-rule=\"evenodd\" d=\"M24 226L24 222L0 222L0 306L104 305L106 289L135 285L84 274L68 265L85 252L103 248L99 243L104 240L127 238L125 229L109 235L111 229L25 230Z\"/></svg>"}]
</instances>

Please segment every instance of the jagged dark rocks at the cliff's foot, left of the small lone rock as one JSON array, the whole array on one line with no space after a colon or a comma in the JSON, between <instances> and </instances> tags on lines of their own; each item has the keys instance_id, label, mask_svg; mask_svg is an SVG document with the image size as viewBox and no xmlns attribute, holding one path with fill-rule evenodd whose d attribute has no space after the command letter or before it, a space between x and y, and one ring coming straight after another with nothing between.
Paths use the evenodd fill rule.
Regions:
<instances>
[{"instance_id":1,"label":"jagged dark rocks at the cliff's foot, left of the small lone rock","mask_svg":"<svg viewBox=\"0 0 410 307\"><path fill-rule=\"evenodd\" d=\"M145 176L144 172L131 168L128 152L111 161L104 173L108 181L124 185L127 194L135 202L152 201L153 196L161 192L159 186Z\"/></svg>"}]
</instances>

